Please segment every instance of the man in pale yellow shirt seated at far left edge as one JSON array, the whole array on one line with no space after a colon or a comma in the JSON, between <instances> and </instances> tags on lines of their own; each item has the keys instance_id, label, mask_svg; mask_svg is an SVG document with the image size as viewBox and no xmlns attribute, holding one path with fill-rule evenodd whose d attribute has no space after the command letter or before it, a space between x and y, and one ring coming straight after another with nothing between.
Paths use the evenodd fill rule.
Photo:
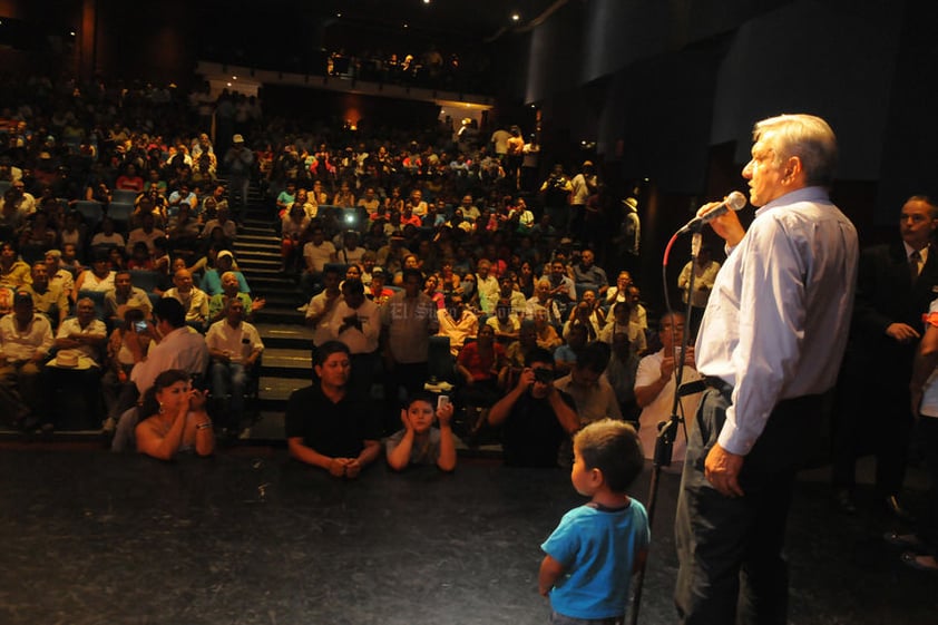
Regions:
<instances>
[{"instance_id":1,"label":"man in pale yellow shirt seated at far left edge","mask_svg":"<svg viewBox=\"0 0 938 625\"><path fill-rule=\"evenodd\" d=\"M0 318L0 406L13 426L31 428L46 418L41 384L52 349L52 328L33 310L28 291L13 294L13 312Z\"/></svg>"}]
</instances>

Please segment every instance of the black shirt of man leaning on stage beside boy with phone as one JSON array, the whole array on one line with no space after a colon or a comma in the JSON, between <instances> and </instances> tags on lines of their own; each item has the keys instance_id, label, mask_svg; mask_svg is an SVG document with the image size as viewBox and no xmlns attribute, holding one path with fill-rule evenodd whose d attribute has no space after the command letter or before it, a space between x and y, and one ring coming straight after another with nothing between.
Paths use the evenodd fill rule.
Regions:
<instances>
[{"instance_id":1,"label":"black shirt of man leaning on stage beside boy with phone","mask_svg":"<svg viewBox=\"0 0 938 625\"><path fill-rule=\"evenodd\" d=\"M381 439L378 410L367 399L345 395L333 403L319 385L294 391L286 404L286 438L331 458L354 458L365 440Z\"/></svg>"}]
</instances>

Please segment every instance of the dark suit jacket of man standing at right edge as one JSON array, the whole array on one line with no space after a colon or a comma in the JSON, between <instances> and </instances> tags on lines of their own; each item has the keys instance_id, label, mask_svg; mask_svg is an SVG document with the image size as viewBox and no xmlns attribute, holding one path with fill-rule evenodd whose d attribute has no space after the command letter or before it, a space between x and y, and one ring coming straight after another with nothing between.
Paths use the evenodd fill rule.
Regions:
<instances>
[{"instance_id":1,"label":"dark suit jacket of man standing at right edge","mask_svg":"<svg viewBox=\"0 0 938 625\"><path fill-rule=\"evenodd\" d=\"M886 335L891 323L924 331L921 315L938 296L938 248L931 246L918 280L911 283L901 241L868 247L860 254L857 299L847 359L871 381L908 384L917 344L900 344ZM851 367L852 369L852 367ZM867 377L867 375L862 375ZM858 390L859 392L859 390Z\"/></svg>"}]
</instances>

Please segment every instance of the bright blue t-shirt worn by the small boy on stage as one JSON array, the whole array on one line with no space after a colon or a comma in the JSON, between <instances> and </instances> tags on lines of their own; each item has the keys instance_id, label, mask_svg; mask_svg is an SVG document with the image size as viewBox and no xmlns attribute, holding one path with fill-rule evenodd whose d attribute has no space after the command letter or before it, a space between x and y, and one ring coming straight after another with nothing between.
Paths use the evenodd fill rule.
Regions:
<instances>
[{"instance_id":1,"label":"bright blue t-shirt worn by the small boy on stage","mask_svg":"<svg viewBox=\"0 0 938 625\"><path fill-rule=\"evenodd\" d=\"M645 507L574 508L540 546L564 567L550 590L555 612L573 618L610 618L625 614L635 555L651 534Z\"/></svg>"}]
</instances>

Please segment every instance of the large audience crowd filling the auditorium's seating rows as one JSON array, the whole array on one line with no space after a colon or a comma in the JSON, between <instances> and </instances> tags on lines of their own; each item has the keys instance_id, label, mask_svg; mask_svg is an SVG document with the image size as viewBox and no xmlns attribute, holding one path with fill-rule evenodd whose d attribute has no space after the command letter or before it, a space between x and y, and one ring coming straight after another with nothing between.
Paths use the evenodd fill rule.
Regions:
<instances>
[{"instance_id":1,"label":"large audience crowd filling the auditorium's seating rows","mask_svg":"<svg viewBox=\"0 0 938 625\"><path fill-rule=\"evenodd\" d=\"M625 258L589 236L624 211L592 163L571 176L565 211L548 183L519 187L517 127L490 139L442 125L301 129L237 94L102 80L31 78L2 104L0 392L17 427L50 430L81 407L85 424L104 421L127 448L157 431L138 429L154 417L145 399L173 392L174 406L198 410L190 431L166 417L173 437L202 440L206 411L215 430L242 431L264 349L251 321L265 301L234 245L252 186L253 215L266 206L282 238L314 359L323 344L348 348L355 397L388 399L382 434L400 428L399 393L428 381L455 385L456 413L443 413L470 443L512 419L489 418L502 397L535 392L515 404L555 414L546 436L536 421L525 434L548 450L512 457L538 462L568 461L577 423L637 422L632 387L654 332ZM534 380L545 367L532 357L549 360L549 377ZM190 382L175 374L154 390L165 371Z\"/></svg>"}]
</instances>

